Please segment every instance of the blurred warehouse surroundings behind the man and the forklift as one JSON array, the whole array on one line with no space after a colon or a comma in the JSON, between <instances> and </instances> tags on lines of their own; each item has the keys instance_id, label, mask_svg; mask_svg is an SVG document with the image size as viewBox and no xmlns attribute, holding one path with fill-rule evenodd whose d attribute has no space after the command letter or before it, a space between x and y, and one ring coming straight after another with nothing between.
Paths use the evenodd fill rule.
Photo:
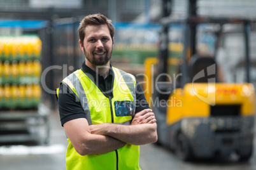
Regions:
<instances>
[{"instance_id":1,"label":"blurred warehouse surroundings behind the man and the forklift","mask_svg":"<svg viewBox=\"0 0 256 170\"><path fill-rule=\"evenodd\" d=\"M54 89L85 60L77 32L84 16L102 13L112 20L115 45L111 64L142 82L140 74L145 72L147 58L163 54L184 58L186 27L179 22L168 25L165 20L188 18L191 2L0 0L0 169L66 169L68 142L60 125ZM196 3L197 16L248 22L248 46L245 28L239 23L198 26L197 53L215 57L222 82L247 82L246 73L250 72L250 82L256 85L255 8L253 0ZM164 49L162 41L167 41ZM246 51L250 68L245 63ZM256 169L256 154L253 150L252 158L243 163L222 159L183 162L166 147L150 144L141 147L141 168Z\"/></svg>"}]
</instances>

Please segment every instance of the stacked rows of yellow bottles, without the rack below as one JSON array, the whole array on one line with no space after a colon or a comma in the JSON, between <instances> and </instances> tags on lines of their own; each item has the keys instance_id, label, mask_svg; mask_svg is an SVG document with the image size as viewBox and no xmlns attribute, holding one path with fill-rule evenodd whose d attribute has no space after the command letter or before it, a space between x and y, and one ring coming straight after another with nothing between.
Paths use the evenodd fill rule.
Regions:
<instances>
[{"instance_id":1,"label":"stacked rows of yellow bottles, without the rack below","mask_svg":"<svg viewBox=\"0 0 256 170\"><path fill-rule=\"evenodd\" d=\"M41 100L41 40L0 36L0 108L37 108Z\"/></svg>"}]
</instances>

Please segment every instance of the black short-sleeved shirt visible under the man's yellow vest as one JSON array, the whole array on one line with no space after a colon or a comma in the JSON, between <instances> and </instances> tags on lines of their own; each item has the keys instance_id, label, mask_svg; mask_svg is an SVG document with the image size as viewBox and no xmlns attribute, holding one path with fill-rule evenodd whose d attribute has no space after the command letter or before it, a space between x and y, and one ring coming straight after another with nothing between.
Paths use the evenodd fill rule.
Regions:
<instances>
[{"instance_id":1,"label":"black short-sleeved shirt visible under the man's yellow vest","mask_svg":"<svg viewBox=\"0 0 256 170\"><path fill-rule=\"evenodd\" d=\"M101 92L105 96L113 96L113 93L111 91L113 87L113 81L115 74L113 73L112 68L110 68L110 73L104 79L103 76L97 74L94 72L94 70L90 69L85 65L85 62L83 62L82 65L83 72L96 84L96 86L101 90ZM62 93L62 91L67 91L67 93ZM59 114L60 114L60 121L63 126L65 122L71 121L73 119L78 118L85 118L85 113L83 111L82 105L80 101L78 100L78 97L75 95L75 93L70 89L66 84L61 84L59 88L59 98L58 98L58 104L59 104ZM136 80L136 110L135 113L140 112L141 110L144 110L146 108L150 108L148 103L146 102L145 95L143 93L143 89L141 88L141 85Z\"/></svg>"}]
</instances>

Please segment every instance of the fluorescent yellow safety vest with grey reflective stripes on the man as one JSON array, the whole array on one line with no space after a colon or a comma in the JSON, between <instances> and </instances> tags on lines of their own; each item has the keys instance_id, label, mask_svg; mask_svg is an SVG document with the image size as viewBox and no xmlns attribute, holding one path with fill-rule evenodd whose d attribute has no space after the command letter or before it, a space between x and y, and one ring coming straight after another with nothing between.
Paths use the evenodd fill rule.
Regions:
<instances>
[{"instance_id":1,"label":"fluorescent yellow safety vest with grey reflective stripes on the man","mask_svg":"<svg viewBox=\"0 0 256 170\"><path fill-rule=\"evenodd\" d=\"M114 67L113 98L104 96L96 84L80 69L73 72L62 82L66 83L78 96L85 117L90 124L116 123L131 124L135 114L136 79ZM126 105L127 103L132 105ZM131 113L118 110L120 105L131 106ZM123 107L122 109L127 108ZM128 110L129 111L129 110ZM123 115L126 113L125 115ZM78 154L69 141L66 153L67 169L140 169L139 146L127 144L118 150L100 155Z\"/></svg>"}]
</instances>

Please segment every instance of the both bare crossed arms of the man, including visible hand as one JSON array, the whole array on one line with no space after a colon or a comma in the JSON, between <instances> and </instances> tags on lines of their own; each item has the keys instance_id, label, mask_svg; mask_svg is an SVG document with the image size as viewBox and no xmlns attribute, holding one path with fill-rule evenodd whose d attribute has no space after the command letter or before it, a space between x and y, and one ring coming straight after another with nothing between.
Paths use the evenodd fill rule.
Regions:
<instances>
[{"instance_id":1,"label":"both bare crossed arms of the man, including visible hand","mask_svg":"<svg viewBox=\"0 0 256 170\"><path fill-rule=\"evenodd\" d=\"M151 109L138 112L131 125L88 124L86 119L73 119L63 126L76 152L80 155L105 154L126 143L144 145L157 141L157 124Z\"/></svg>"}]
</instances>

